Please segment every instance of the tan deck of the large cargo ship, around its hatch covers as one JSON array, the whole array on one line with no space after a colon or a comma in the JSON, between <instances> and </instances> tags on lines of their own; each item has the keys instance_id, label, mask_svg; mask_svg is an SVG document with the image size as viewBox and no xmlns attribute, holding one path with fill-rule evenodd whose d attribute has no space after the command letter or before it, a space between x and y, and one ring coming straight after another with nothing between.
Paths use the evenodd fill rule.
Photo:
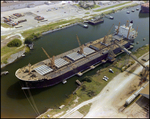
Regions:
<instances>
[{"instance_id":1,"label":"tan deck of the large cargo ship, around its hatch covers","mask_svg":"<svg viewBox=\"0 0 150 119\"><path fill-rule=\"evenodd\" d=\"M60 55L57 55L55 56L55 60L61 58L65 61L67 61L68 63L67 64L64 64L63 66L61 67L54 67L53 69L48 65L50 63L50 60L49 59L46 59L46 60L43 60L41 62L38 62L34 65L32 65L30 67L30 74L29 74L29 66L25 66L23 68L20 68L16 71L16 76L17 78L19 78L20 80L24 80L24 81L37 81L37 80L42 80L42 79L47 79L47 80L50 80L50 79L53 79L57 76L60 76L66 72L69 72L73 69L76 69L77 67L79 66L82 66L83 64L86 64L88 63L89 61L92 61L93 59L96 59L98 57L100 57L101 55L104 55L105 53L108 52L108 50L110 49L111 47L111 43L110 43L110 40L111 40L111 35L109 35L110 38L107 39L106 43L108 46L104 46L102 48L102 44L100 42L103 41L103 38L100 38L98 40L95 40L95 41L91 41L91 42L88 42L86 44L84 44L84 47L88 47L90 45L93 45L95 47L97 47L99 50L96 51L94 50L94 52L92 52L91 54L89 55L86 55L86 56L83 56L81 58L79 58L78 60L71 60L69 59L68 57L66 57L68 54L71 54L73 52L77 52L80 50L79 47L73 49L73 50L70 50L70 51L67 51L65 53L62 53ZM128 41L126 40L118 40L117 41L120 45L124 45L126 44ZM112 47L111 47L112 48ZM118 48L117 45L114 45L113 46L114 49ZM52 69L53 71L47 71L47 73L45 73L44 75L41 75L37 70L38 67L40 66L48 66L50 67L50 69ZM46 69L45 69L46 70Z\"/></svg>"}]
</instances>

